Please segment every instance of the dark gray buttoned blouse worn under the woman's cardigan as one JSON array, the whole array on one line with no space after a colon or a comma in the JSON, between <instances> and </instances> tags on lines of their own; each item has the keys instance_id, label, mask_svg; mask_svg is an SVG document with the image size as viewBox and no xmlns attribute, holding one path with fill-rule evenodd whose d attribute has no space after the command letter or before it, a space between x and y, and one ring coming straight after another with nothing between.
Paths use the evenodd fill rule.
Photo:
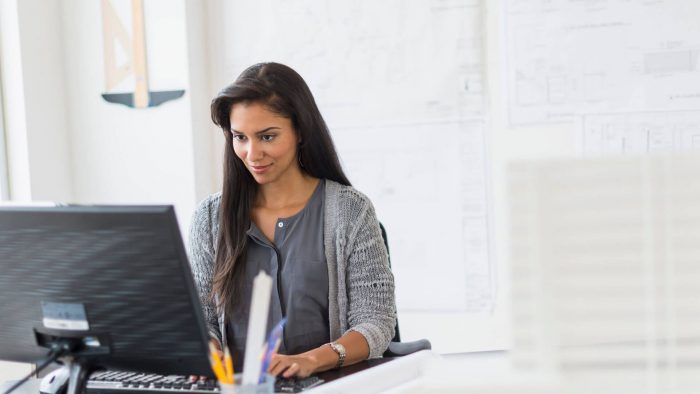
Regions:
<instances>
[{"instance_id":1,"label":"dark gray buttoned blouse worn under the woman's cardigan","mask_svg":"<svg viewBox=\"0 0 700 394\"><path fill-rule=\"evenodd\" d=\"M252 283L261 270L273 280L266 332L287 318L279 352L299 354L330 341L328 267L323 246L324 186L321 180L300 212L277 220L274 243L251 223L246 288L226 329L235 365L243 367Z\"/></svg>"}]
</instances>

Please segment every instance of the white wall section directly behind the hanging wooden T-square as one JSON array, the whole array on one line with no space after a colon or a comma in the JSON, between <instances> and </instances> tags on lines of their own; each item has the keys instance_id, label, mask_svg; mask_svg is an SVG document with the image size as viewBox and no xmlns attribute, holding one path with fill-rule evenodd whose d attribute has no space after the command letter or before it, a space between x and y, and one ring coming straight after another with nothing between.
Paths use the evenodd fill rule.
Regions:
<instances>
[{"instance_id":1,"label":"white wall section directly behind the hanging wooden T-square","mask_svg":"<svg viewBox=\"0 0 700 394\"><path fill-rule=\"evenodd\" d=\"M201 121L192 115L197 107L192 100L187 67L182 66L188 60L185 2L170 2L178 33L172 37L172 43L179 47L167 59L183 68L183 85L172 88L185 89L185 96L140 110L107 103L100 97L105 90L100 3L62 4L74 200L174 204L182 228L186 229L199 197L195 187L193 129L201 127ZM203 132L197 134L200 133ZM206 179L206 175L199 179L203 184L200 195L202 189L209 187Z\"/></svg>"}]
</instances>

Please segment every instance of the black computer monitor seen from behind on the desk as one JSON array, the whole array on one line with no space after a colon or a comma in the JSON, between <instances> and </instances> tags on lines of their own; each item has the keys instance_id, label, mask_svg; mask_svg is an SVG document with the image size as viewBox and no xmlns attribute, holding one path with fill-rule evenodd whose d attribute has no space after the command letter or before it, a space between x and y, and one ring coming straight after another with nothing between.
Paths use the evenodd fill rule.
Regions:
<instances>
[{"instance_id":1,"label":"black computer monitor seen from behind on the desk","mask_svg":"<svg viewBox=\"0 0 700 394\"><path fill-rule=\"evenodd\" d=\"M172 206L0 208L0 359L212 376ZM45 362L44 364L48 364Z\"/></svg>"}]
</instances>

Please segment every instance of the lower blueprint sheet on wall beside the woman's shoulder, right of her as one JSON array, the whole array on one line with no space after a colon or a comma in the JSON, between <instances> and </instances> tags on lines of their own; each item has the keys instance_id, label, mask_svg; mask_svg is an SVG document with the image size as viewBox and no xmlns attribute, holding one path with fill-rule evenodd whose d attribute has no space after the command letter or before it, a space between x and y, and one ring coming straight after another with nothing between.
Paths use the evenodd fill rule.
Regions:
<instances>
[{"instance_id":1,"label":"lower blueprint sheet on wall beside the woman's shoulder, right of her","mask_svg":"<svg viewBox=\"0 0 700 394\"><path fill-rule=\"evenodd\" d=\"M491 310L482 123L343 128L335 142L387 227L399 308Z\"/></svg>"}]
</instances>

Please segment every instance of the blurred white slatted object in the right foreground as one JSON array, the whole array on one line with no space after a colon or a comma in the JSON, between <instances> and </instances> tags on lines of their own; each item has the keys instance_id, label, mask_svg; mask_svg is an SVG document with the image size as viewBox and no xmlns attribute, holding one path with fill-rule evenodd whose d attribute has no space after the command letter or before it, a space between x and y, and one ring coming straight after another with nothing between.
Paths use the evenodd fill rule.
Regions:
<instances>
[{"instance_id":1,"label":"blurred white slatted object in the right foreground","mask_svg":"<svg viewBox=\"0 0 700 394\"><path fill-rule=\"evenodd\" d=\"M563 393L700 387L700 157L511 168L516 366Z\"/></svg>"}]
</instances>

